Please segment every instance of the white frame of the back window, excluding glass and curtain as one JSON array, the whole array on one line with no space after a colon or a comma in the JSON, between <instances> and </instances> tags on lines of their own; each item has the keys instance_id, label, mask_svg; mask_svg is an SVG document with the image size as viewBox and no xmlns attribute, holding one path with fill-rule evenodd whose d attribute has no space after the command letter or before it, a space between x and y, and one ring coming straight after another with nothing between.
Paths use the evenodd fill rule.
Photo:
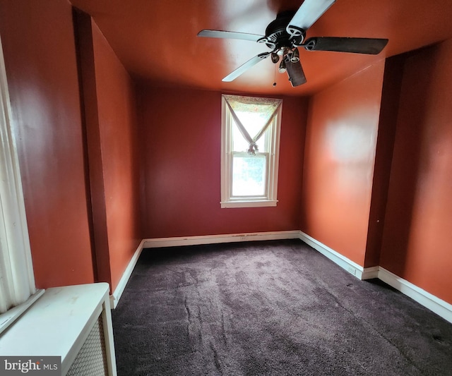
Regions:
<instances>
[{"instance_id":1,"label":"white frame of the back window, excluding glass and curtain","mask_svg":"<svg viewBox=\"0 0 452 376\"><path fill-rule=\"evenodd\" d=\"M221 207L271 207L278 203L278 167L280 151L281 113L283 104L280 104L268 126L266 132L268 152L256 152L263 155L266 163L266 194L263 196L234 197L232 195L232 162L234 154L246 154L246 152L232 151L232 127L234 120L227 106L225 96L221 99Z\"/></svg>"}]
</instances>

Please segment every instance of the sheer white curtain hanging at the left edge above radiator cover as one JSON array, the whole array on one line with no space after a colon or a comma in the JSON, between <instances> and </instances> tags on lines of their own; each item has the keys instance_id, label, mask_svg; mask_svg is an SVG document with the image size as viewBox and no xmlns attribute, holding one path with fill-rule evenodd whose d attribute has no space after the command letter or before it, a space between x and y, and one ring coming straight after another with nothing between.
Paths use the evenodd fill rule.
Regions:
<instances>
[{"instance_id":1,"label":"sheer white curtain hanging at the left edge above radiator cover","mask_svg":"<svg viewBox=\"0 0 452 376\"><path fill-rule=\"evenodd\" d=\"M0 40L0 314L35 293L16 147L11 133L8 86ZM3 317L2 317L3 319ZM0 320L1 322L5 320ZM0 322L0 324L1 324Z\"/></svg>"}]
</instances>

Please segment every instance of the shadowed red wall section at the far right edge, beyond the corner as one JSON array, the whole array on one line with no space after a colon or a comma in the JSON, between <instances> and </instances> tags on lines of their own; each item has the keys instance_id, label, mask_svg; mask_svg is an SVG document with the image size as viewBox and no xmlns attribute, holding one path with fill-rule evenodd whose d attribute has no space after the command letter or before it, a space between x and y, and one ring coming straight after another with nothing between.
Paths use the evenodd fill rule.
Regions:
<instances>
[{"instance_id":1,"label":"shadowed red wall section at the far right edge, beyond the corner","mask_svg":"<svg viewBox=\"0 0 452 376\"><path fill-rule=\"evenodd\" d=\"M452 303L452 40L405 61L380 265Z\"/></svg>"}]
</instances>

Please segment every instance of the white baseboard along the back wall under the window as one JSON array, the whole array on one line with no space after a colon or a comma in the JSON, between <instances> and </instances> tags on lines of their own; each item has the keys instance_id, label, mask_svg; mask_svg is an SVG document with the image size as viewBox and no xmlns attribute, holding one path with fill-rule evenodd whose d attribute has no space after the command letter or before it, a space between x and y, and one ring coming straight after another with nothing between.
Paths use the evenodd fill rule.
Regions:
<instances>
[{"instance_id":1,"label":"white baseboard along the back wall under the window","mask_svg":"<svg viewBox=\"0 0 452 376\"><path fill-rule=\"evenodd\" d=\"M270 241L297 238L299 238L298 230L206 236L179 236L177 238L144 239L143 248L178 247L181 245L233 243L239 241Z\"/></svg>"}]
</instances>

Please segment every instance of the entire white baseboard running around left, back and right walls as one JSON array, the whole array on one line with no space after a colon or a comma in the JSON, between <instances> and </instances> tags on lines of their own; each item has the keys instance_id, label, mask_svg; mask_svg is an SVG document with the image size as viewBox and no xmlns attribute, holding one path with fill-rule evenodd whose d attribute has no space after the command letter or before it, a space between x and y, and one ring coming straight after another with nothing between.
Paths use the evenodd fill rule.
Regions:
<instances>
[{"instance_id":1,"label":"entire white baseboard running around left, back and right walls","mask_svg":"<svg viewBox=\"0 0 452 376\"><path fill-rule=\"evenodd\" d=\"M143 248L161 248L161 247L176 247L182 245L201 245L201 244L217 244L217 243L233 243L240 241L269 241L280 239L300 239L307 243L312 248L320 252L325 257L328 257L336 265L342 267L350 274L358 279L372 279L378 278L394 289L409 296L417 303L420 303L425 308L432 310L432 312L443 317L448 322L452 322L452 305L431 293L421 289L418 286L406 281L403 278L396 276L384 269L383 267L362 267L349 258L341 255L337 251L329 248L327 245L317 241L308 234L302 231L274 231L274 232L260 232L260 233L245 233L245 234L224 234L224 235L208 235L208 236L181 236L174 238L148 238L143 239L129 262L126 271L124 272L117 288L110 296L112 308L116 308L119 298L123 293L127 281L131 277L133 268L138 261Z\"/></svg>"}]
</instances>

